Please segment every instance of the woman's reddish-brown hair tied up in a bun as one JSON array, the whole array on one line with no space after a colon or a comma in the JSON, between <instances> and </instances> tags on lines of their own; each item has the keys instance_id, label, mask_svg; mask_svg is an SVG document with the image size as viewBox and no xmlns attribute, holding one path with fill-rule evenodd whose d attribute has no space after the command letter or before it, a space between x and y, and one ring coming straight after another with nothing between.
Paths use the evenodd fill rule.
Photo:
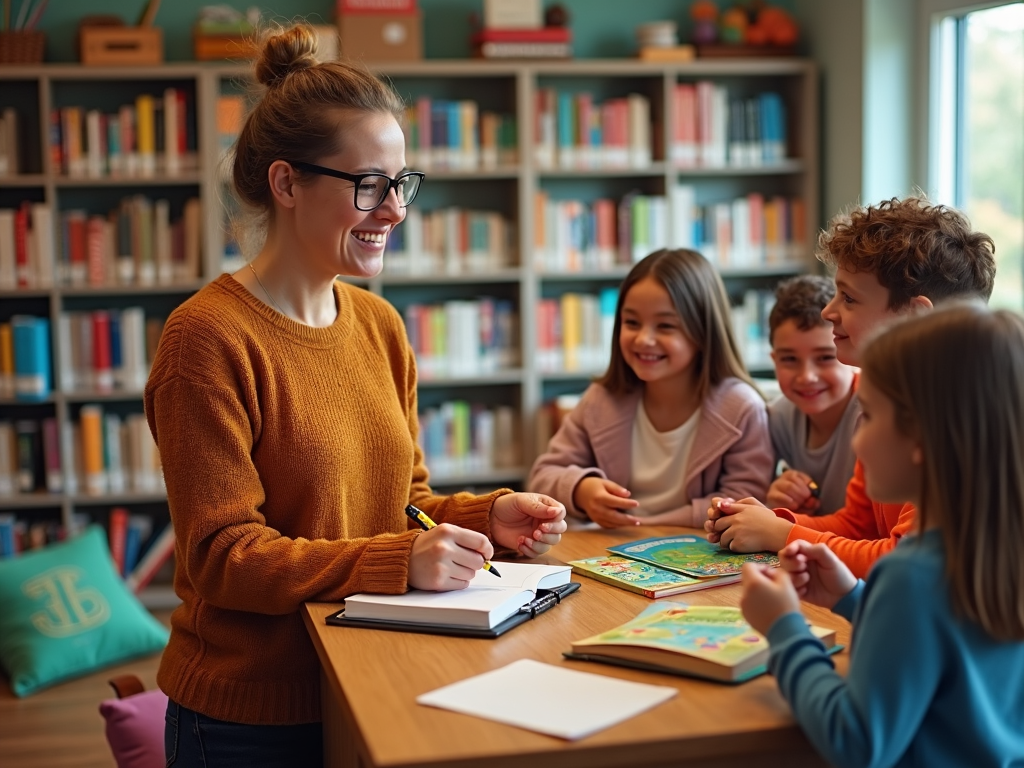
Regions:
<instances>
[{"instance_id":1,"label":"woman's reddish-brown hair tied up in a bun","mask_svg":"<svg viewBox=\"0 0 1024 768\"><path fill-rule=\"evenodd\" d=\"M266 33L253 66L262 95L234 144L231 180L238 199L264 223L273 211L270 164L316 163L336 153L339 111L391 115L399 122L403 117L401 99L370 72L342 61L317 62L315 54L316 33L296 25Z\"/></svg>"}]
</instances>

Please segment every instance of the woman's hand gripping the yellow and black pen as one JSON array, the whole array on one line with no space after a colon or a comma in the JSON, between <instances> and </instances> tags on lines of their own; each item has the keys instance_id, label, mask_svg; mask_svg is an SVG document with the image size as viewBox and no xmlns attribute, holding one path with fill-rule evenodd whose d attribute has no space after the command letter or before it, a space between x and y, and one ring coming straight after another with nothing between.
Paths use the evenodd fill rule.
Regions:
<instances>
[{"instance_id":1,"label":"woman's hand gripping the yellow and black pen","mask_svg":"<svg viewBox=\"0 0 1024 768\"><path fill-rule=\"evenodd\" d=\"M409 586L432 592L466 589L483 561L494 555L495 548L483 534L441 523L413 542Z\"/></svg>"}]
</instances>

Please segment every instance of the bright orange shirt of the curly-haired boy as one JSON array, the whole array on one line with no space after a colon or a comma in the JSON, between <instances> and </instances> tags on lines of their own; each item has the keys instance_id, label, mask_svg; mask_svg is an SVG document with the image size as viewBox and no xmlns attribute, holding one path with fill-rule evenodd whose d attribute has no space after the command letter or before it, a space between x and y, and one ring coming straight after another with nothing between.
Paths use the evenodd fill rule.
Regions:
<instances>
[{"instance_id":1,"label":"bright orange shirt of the curly-haired boy","mask_svg":"<svg viewBox=\"0 0 1024 768\"><path fill-rule=\"evenodd\" d=\"M788 510L776 514L796 524L786 542L803 539L825 544L839 555L858 579L867 575L871 565L882 555L892 551L899 540L913 528L914 509L911 504L879 504L867 498L864 487L864 467L858 460L853 478L846 486L846 506L835 514L811 517Z\"/></svg>"}]
</instances>

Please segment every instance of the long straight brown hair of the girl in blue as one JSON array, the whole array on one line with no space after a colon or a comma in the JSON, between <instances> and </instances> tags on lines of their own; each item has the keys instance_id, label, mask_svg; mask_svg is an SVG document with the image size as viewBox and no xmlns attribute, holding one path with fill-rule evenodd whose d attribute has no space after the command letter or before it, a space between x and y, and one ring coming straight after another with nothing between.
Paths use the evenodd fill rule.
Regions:
<instances>
[{"instance_id":1,"label":"long straight brown hair of the girl in blue","mask_svg":"<svg viewBox=\"0 0 1024 768\"><path fill-rule=\"evenodd\" d=\"M912 315L864 351L925 456L922 529L942 530L954 609L1024 640L1024 318L980 302Z\"/></svg>"}]
</instances>

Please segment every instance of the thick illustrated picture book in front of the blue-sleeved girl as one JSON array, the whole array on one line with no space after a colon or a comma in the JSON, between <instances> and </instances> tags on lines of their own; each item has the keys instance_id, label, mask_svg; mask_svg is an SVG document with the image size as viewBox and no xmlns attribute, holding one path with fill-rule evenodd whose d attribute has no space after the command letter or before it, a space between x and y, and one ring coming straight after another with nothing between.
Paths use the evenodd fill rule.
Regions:
<instances>
[{"instance_id":1,"label":"thick illustrated picture book in front of the blue-sleeved girl","mask_svg":"<svg viewBox=\"0 0 1024 768\"><path fill-rule=\"evenodd\" d=\"M811 627L826 649L836 631ZM666 601L600 635L572 643L569 658L738 683L766 672L768 640L739 608Z\"/></svg>"}]
</instances>

